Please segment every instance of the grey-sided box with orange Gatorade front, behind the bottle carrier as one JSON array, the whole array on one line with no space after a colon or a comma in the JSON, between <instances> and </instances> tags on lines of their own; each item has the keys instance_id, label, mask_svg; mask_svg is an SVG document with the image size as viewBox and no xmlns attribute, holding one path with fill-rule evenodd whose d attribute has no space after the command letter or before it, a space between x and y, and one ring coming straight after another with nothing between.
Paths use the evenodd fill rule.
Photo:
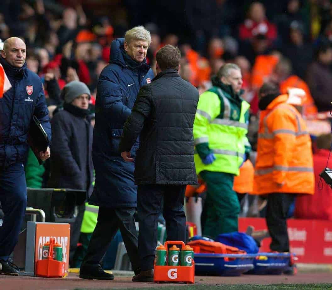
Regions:
<instances>
[{"instance_id":1,"label":"grey-sided box with orange Gatorade front, behind the bottle carrier","mask_svg":"<svg viewBox=\"0 0 332 290\"><path fill-rule=\"evenodd\" d=\"M34 275L36 262L42 260L42 247L49 242L50 238L55 238L56 243L61 244L65 272L69 268L69 238L70 224L50 223L50 222L28 222L27 225L27 245L26 245L26 275Z\"/></svg>"}]
</instances>

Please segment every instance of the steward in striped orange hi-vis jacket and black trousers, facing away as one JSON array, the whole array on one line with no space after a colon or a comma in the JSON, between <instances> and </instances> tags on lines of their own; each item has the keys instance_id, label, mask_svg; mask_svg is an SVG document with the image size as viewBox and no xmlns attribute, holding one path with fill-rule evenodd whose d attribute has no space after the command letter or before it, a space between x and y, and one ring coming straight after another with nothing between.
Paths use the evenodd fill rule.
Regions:
<instances>
[{"instance_id":1,"label":"steward in striped orange hi-vis jacket and black trousers, facing away","mask_svg":"<svg viewBox=\"0 0 332 290\"><path fill-rule=\"evenodd\" d=\"M254 193L268 194L266 220L271 250L289 252L286 218L296 193L314 193L309 133L299 112L274 83L259 91L261 110Z\"/></svg>"}]
</instances>

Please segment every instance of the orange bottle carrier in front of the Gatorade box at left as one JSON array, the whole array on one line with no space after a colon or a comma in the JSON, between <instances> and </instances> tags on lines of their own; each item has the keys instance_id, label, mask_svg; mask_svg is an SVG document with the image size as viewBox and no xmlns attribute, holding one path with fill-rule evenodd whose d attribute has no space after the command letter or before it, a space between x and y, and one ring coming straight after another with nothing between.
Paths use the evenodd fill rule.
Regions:
<instances>
[{"instance_id":1,"label":"orange bottle carrier in front of the Gatorade box at left","mask_svg":"<svg viewBox=\"0 0 332 290\"><path fill-rule=\"evenodd\" d=\"M44 246L48 247L48 243L44 244ZM51 238L49 241L49 248L48 248L48 255L44 255L42 260L38 260L36 263L36 276L39 277L63 277L65 276L65 262L62 261L62 251L61 255L57 255L56 250L53 251L54 247L60 246L59 244L55 243L55 239ZM43 250L44 252L44 250ZM53 259L53 252L54 258ZM61 256L61 257L60 257Z\"/></svg>"}]
</instances>

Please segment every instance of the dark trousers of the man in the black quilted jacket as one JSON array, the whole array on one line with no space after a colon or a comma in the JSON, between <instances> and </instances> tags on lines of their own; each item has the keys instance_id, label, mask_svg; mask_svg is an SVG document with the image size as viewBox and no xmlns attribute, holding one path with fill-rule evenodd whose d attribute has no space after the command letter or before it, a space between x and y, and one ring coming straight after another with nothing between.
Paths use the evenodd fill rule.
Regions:
<instances>
[{"instance_id":1,"label":"dark trousers of the man in the black quilted jacket","mask_svg":"<svg viewBox=\"0 0 332 290\"><path fill-rule=\"evenodd\" d=\"M186 216L183 210L185 190L185 185L138 186L138 249L142 271L153 269L158 238L158 217L162 204L167 240L186 242Z\"/></svg>"}]
</instances>

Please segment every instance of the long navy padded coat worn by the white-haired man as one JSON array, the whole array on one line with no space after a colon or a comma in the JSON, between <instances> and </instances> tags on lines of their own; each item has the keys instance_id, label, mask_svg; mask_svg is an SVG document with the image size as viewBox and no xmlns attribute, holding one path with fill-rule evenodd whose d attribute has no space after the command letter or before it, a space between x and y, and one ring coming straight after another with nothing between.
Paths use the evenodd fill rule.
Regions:
<instances>
[{"instance_id":1,"label":"long navy padded coat worn by the white-haired man","mask_svg":"<svg viewBox=\"0 0 332 290\"><path fill-rule=\"evenodd\" d=\"M124 162L119 143L124 122L131 113L140 87L153 79L146 64L133 61L124 51L124 38L111 43L110 64L102 71L97 86L96 124L93 133L92 160L96 172L95 187L89 203L106 207L135 207L137 187L134 163ZM132 147L131 156L139 146Z\"/></svg>"}]
</instances>

